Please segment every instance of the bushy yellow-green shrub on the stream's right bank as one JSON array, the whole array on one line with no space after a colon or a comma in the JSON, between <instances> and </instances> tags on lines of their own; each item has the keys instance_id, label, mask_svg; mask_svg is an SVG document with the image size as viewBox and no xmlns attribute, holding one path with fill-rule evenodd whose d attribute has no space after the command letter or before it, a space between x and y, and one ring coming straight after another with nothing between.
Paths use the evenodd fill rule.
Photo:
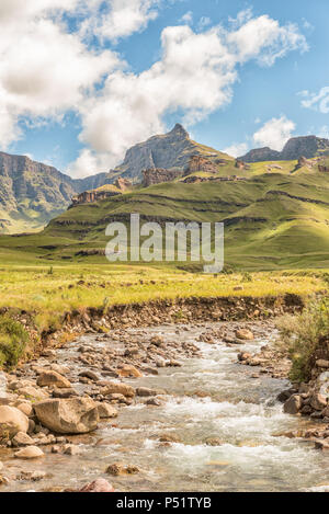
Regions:
<instances>
[{"instance_id":1,"label":"bushy yellow-green shrub on the stream's right bank","mask_svg":"<svg viewBox=\"0 0 329 514\"><path fill-rule=\"evenodd\" d=\"M293 362L291 379L308 381L316 352L329 352L329 298L313 301L298 316L284 316L277 328Z\"/></svg>"}]
</instances>

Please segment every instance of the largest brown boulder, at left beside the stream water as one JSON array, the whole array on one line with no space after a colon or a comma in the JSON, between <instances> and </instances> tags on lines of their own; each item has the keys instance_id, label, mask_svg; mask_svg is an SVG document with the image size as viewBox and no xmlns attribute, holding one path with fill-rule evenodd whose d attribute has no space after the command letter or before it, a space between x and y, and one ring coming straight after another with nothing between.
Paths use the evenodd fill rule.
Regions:
<instances>
[{"instance_id":1,"label":"largest brown boulder, at left beside the stream water","mask_svg":"<svg viewBox=\"0 0 329 514\"><path fill-rule=\"evenodd\" d=\"M98 404L89 398L42 401L34 406L42 425L58 434L87 434L98 427Z\"/></svg>"}]
</instances>

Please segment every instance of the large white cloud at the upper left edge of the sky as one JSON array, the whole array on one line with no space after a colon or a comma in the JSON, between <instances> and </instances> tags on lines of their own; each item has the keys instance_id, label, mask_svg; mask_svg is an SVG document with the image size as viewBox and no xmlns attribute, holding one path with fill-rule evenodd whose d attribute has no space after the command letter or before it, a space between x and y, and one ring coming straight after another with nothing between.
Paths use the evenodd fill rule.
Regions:
<instances>
[{"instance_id":1,"label":"large white cloud at the upper left edge of the sky","mask_svg":"<svg viewBox=\"0 0 329 514\"><path fill-rule=\"evenodd\" d=\"M33 3L33 5L32 5ZM110 50L94 53L53 15L77 0L1 0L0 141L20 136L22 116L59 119L83 101L103 76L122 62ZM56 9L55 9L56 8Z\"/></svg>"}]
</instances>

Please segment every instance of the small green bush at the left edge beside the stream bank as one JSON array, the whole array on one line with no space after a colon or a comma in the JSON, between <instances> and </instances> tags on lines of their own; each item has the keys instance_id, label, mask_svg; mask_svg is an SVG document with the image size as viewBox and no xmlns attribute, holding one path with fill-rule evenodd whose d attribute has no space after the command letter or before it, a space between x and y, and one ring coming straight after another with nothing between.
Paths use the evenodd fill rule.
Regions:
<instances>
[{"instance_id":1,"label":"small green bush at the left edge beside the stream bank","mask_svg":"<svg viewBox=\"0 0 329 514\"><path fill-rule=\"evenodd\" d=\"M22 323L7 316L0 317L0 367L16 366L23 356L29 333Z\"/></svg>"}]
</instances>

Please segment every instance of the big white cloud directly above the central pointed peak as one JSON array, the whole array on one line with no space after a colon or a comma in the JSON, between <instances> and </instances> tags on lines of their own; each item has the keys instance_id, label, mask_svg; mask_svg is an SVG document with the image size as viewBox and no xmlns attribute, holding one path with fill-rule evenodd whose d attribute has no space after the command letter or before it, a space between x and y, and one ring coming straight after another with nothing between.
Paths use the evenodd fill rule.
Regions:
<instances>
[{"instance_id":1,"label":"big white cloud directly above the central pointed peak","mask_svg":"<svg viewBox=\"0 0 329 514\"><path fill-rule=\"evenodd\" d=\"M279 24L274 25L280 30ZM198 34L186 25L164 28L158 62L140 75L112 73L102 94L80 108L81 141L95 153L107 152L109 165L113 167L128 147L166 128L162 117L167 112L182 110L183 123L189 126L228 104L238 78L237 65L247 59L246 55L232 52L231 35L222 27ZM259 58L263 36L263 32L259 34ZM268 39L264 45L269 58ZM279 57L277 45L272 61ZM296 47L294 43L292 49Z\"/></svg>"}]
</instances>

